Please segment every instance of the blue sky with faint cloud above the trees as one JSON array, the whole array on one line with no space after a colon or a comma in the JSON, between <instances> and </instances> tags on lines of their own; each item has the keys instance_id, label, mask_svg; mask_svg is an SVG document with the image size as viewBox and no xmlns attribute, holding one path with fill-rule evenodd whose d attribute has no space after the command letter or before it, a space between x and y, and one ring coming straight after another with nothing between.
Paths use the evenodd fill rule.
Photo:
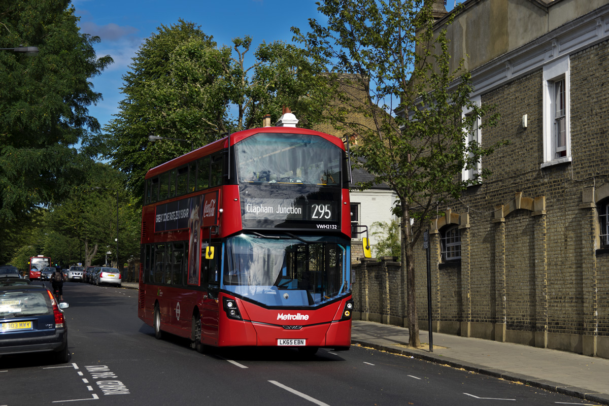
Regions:
<instances>
[{"instance_id":1,"label":"blue sky with faint cloud above the trees","mask_svg":"<svg viewBox=\"0 0 609 406\"><path fill-rule=\"evenodd\" d=\"M447 3L446 8L452 9L454 0ZM80 17L81 32L101 38L96 44L97 56L110 55L114 59L91 81L104 97L89 109L102 127L118 112L118 103L124 98L120 93L122 75L129 70L139 46L161 24L169 26L180 18L199 24L219 46L249 35L253 40L248 53L251 56L263 41L290 42L290 27L306 32L309 18L323 19L315 0L72 0L72 4ZM249 62L247 66L253 59Z\"/></svg>"}]
</instances>

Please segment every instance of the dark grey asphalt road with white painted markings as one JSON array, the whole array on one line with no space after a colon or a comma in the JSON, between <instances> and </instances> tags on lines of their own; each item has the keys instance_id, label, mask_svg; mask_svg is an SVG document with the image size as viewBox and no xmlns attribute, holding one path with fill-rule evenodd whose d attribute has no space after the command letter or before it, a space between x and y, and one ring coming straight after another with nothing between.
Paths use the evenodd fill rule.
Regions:
<instances>
[{"instance_id":1,"label":"dark grey asphalt road with white painted markings","mask_svg":"<svg viewBox=\"0 0 609 406\"><path fill-rule=\"evenodd\" d=\"M574 397L373 349L222 349L155 340L137 291L64 284L69 363L0 358L0 406L31 405L558 405Z\"/></svg>"}]
</instances>

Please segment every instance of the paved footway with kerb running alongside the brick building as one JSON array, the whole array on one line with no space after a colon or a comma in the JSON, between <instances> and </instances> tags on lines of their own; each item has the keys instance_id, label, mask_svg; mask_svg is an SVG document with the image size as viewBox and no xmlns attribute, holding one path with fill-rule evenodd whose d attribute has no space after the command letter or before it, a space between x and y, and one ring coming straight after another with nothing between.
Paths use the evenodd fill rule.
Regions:
<instances>
[{"instance_id":1,"label":"paved footway with kerb running alongside the brick building","mask_svg":"<svg viewBox=\"0 0 609 406\"><path fill-rule=\"evenodd\" d=\"M122 287L138 289L137 283ZM609 359L536 348L481 338L420 331L420 348L408 347L408 329L372 321L354 320L351 343L416 359L462 368L532 387L609 405Z\"/></svg>"}]
</instances>

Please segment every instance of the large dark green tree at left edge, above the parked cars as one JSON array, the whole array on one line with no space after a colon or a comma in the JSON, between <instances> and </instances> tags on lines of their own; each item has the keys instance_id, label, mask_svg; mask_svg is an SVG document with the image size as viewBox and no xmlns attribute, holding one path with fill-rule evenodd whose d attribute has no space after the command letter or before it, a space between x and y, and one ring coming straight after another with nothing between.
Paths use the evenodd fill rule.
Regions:
<instances>
[{"instance_id":1,"label":"large dark green tree at left edge, above the parked cars","mask_svg":"<svg viewBox=\"0 0 609 406\"><path fill-rule=\"evenodd\" d=\"M90 79L112 60L98 37L80 33L69 0L0 0L0 226L61 199L83 166L74 145L99 131L88 107L101 99Z\"/></svg>"}]
</instances>

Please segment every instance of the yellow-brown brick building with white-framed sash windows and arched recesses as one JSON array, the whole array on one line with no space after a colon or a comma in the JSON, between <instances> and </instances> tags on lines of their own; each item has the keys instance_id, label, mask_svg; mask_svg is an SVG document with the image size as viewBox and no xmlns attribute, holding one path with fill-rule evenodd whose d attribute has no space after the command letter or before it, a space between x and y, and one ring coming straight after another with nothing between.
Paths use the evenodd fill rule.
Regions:
<instances>
[{"instance_id":1,"label":"yellow-brown brick building with white-framed sash windows and arched recesses","mask_svg":"<svg viewBox=\"0 0 609 406\"><path fill-rule=\"evenodd\" d=\"M609 358L609 0L467 0L448 38L472 100L501 113L469 136L510 144L430 225L434 330ZM426 329L422 247L416 261ZM376 268L375 286L394 278ZM362 318L403 324L399 304L364 309L357 282Z\"/></svg>"}]
</instances>

